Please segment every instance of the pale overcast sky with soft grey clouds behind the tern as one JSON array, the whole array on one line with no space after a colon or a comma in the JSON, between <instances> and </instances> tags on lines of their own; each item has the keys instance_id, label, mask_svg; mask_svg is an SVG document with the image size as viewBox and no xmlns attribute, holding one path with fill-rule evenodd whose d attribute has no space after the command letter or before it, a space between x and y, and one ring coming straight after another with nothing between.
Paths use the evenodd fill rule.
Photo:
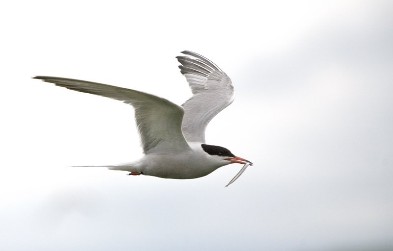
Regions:
<instances>
[{"instance_id":1,"label":"pale overcast sky with soft grey clouds behind the tern","mask_svg":"<svg viewBox=\"0 0 393 251\"><path fill-rule=\"evenodd\" d=\"M258 3L257 3L258 2ZM1 3L0 250L391 250L392 1ZM141 155L133 108L30 77L191 96L200 53L235 101L207 144L250 159L193 180Z\"/></svg>"}]
</instances>

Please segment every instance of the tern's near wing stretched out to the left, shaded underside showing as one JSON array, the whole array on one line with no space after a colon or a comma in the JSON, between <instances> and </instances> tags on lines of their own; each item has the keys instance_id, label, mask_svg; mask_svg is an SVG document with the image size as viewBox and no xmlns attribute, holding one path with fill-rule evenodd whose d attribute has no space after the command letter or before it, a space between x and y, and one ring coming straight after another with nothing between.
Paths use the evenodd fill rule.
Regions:
<instances>
[{"instance_id":1,"label":"tern's near wing stretched out to the left, shaded underside showing","mask_svg":"<svg viewBox=\"0 0 393 251\"><path fill-rule=\"evenodd\" d=\"M104 96L131 104L144 153L166 153L189 149L181 131L184 109L166 99L147 93L83 80L36 76L70 90Z\"/></svg>"}]
</instances>

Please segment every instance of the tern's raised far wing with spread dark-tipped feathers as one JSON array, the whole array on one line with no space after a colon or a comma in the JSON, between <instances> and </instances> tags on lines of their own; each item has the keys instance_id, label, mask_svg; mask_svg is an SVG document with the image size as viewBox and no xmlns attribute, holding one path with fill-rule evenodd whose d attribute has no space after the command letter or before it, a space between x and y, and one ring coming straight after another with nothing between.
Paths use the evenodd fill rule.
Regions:
<instances>
[{"instance_id":1,"label":"tern's raised far wing with spread dark-tipped feathers","mask_svg":"<svg viewBox=\"0 0 393 251\"><path fill-rule=\"evenodd\" d=\"M185 110L182 130L189 142L205 143L210 120L232 103L234 91L230 78L209 59L188 50L177 56L181 73L194 94L182 106Z\"/></svg>"}]
</instances>

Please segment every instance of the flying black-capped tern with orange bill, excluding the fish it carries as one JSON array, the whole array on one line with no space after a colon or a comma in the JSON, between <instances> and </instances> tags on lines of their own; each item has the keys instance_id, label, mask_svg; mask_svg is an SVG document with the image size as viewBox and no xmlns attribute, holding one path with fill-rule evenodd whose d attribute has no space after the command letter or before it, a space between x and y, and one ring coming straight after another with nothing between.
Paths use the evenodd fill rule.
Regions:
<instances>
[{"instance_id":1,"label":"flying black-capped tern with orange bill, excluding the fish it carries","mask_svg":"<svg viewBox=\"0 0 393 251\"><path fill-rule=\"evenodd\" d=\"M191 179L231 163L252 165L224 147L205 144L206 126L234 100L233 85L228 75L209 59L188 50L181 53L184 55L176 57L181 64L180 72L193 93L181 106L151 94L107 84L53 76L33 78L134 107L144 155L134 162L103 166L108 169L130 172L128 175Z\"/></svg>"}]
</instances>

